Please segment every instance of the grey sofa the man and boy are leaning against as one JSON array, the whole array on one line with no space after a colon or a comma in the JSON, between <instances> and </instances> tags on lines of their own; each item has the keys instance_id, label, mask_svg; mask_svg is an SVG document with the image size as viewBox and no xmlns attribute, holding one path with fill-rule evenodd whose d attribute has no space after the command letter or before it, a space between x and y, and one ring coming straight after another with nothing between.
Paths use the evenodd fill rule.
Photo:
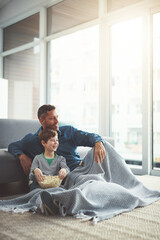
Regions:
<instances>
[{"instance_id":1,"label":"grey sofa the man and boy are leaning against","mask_svg":"<svg viewBox=\"0 0 160 240\"><path fill-rule=\"evenodd\" d=\"M8 145L27 133L35 133L39 127L38 120L0 119L0 195L9 194L8 190L11 190L11 194L29 190L28 180L19 159L8 152ZM112 138L105 139L114 145ZM78 147L81 157L85 156L88 150L88 147Z\"/></svg>"}]
</instances>

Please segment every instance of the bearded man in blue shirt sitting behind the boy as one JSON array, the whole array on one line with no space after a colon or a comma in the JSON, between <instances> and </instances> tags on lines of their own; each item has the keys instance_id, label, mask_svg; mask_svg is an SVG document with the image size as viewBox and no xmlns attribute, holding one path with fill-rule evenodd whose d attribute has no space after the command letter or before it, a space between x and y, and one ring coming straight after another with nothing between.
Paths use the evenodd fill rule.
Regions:
<instances>
[{"instance_id":1,"label":"bearded man in blue shirt sitting behind the boy","mask_svg":"<svg viewBox=\"0 0 160 240\"><path fill-rule=\"evenodd\" d=\"M98 134L84 132L72 126L59 127L55 106L47 104L41 106L38 109L38 119L42 126L35 134L29 133L23 139L11 143L8 147L8 151L19 158L26 175L29 175L33 158L44 151L38 140L38 133L46 128L58 132L59 147L56 153L66 158L71 171L81 163L80 156L76 152L77 146L95 147L95 161L97 163L98 159L100 162L103 161L106 155L103 139Z\"/></svg>"}]
</instances>

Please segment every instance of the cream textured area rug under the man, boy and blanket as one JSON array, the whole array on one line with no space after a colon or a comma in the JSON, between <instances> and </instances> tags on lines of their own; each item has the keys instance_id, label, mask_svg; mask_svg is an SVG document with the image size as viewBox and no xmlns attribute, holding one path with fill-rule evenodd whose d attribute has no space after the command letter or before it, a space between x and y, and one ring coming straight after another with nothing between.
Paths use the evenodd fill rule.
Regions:
<instances>
[{"instance_id":1,"label":"cream textured area rug under the man, boy and blanket","mask_svg":"<svg viewBox=\"0 0 160 240\"><path fill-rule=\"evenodd\" d=\"M160 190L160 177L138 179L148 188ZM0 240L28 239L160 240L160 200L96 225L69 216L0 212Z\"/></svg>"}]
</instances>

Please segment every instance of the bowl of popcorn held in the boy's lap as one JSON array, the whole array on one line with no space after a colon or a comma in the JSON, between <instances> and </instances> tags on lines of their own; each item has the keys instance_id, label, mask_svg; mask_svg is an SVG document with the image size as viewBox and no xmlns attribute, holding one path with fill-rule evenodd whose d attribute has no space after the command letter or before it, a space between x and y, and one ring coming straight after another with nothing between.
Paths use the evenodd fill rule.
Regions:
<instances>
[{"instance_id":1,"label":"bowl of popcorn held in the boy's lap","mask_svg":"<svg viewBox=\"0 0 160 240\"><path fill-rule=\"evenodd\" d=\"M38 182L41 188L55 188L61 185L62 180L59 176L45 176L43 182Z\"/></svg>"}]
</instances>

